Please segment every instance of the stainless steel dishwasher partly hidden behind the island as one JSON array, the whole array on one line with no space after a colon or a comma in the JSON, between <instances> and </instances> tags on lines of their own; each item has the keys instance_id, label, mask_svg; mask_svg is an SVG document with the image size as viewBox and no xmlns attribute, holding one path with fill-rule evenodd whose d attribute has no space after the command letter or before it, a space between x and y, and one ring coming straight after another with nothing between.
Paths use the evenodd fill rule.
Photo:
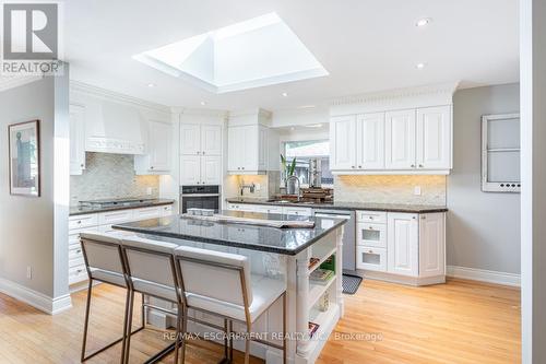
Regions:
<instances>
[{"instance_id":1,"label":"stainless steel dishwasher partly hidden behind the island","mask_svg":"<svg viewBox=\"0 0 546 364\"><path fill-rule=\"evenodd\" d=\"M355 211L316 209L317 218L334 218L348 220L343 232L343 272L356 271L356 219Z\"/></svg>"}]
</instances>

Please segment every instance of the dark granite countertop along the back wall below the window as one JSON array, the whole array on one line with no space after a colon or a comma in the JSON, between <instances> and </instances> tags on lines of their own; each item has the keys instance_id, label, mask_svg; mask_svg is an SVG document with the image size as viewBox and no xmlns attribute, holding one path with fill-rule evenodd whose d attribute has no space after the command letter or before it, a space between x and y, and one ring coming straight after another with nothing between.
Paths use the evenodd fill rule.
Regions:
<instances>
[{"instance_id":1,"label":"dark granite countertop along the back wall below the window","mask_svg":"<svg viewBox=\"0 0 546 364\"><path fill-rule=\"evenodd\" d=\"M336 202L333 203L316 203L316 202L280 202L270 201L265 198L228 198L229 203L248 203L248 204L271 204L271 206L288 206L311 209L325 210L369 210L369 211L387 211L387 212L408 212L408 213L431 213L446 212L448 208L444 206L427 206L427 204L404 204L404 203L371 203L371 202Z\"/></svg>"}]
</instances>

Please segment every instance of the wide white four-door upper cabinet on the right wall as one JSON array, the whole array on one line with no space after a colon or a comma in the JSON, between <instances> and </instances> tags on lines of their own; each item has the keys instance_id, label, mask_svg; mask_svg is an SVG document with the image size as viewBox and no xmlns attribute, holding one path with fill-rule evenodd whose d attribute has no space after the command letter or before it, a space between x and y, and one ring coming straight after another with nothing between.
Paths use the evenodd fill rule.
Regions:
<instances>
[{"instance_id":1,"label":"wide white four-door upper cabinet on the right wall","mask_svg":"<svg viewBox=\"0 0 546 364\"><path fill-rule=\"evenodd\" d=\"M335 116L330 143L334 174L449 174L451 106Z\"/></svg>"}]
</instances>

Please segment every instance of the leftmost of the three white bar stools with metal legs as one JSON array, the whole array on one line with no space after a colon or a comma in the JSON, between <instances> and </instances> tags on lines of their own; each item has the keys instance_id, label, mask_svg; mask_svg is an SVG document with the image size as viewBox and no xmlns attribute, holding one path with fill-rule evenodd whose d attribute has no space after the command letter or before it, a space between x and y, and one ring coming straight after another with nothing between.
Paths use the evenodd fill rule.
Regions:
<instances>
[{"instance_id":1,"label":"leftmost of the three white bar stools with metal legs","mask_svg":"<svg viewBox=\"0 0 546 364\"><path fill-rule=\"evenodd\" d=\"M88 275L87 301L85 306L85 324L83 330L83 343L81 361L86 360L104 352L122 341L120 363L123 363L123 354L127 341L127 315L129 309L130 290L124 274L123 256L121 251L121 240L116 234L99 234L99 233L81 233L81 245L85 268ZM90 324L91 298L93 296L93 284L95 281L111 284L118 287L126 289L126 305L123 314L123 328L120 339L112 341L102 349L86 355L87 331ZM143 329L143 326L134 330L132 333Z\"/></svg>"}]
</instances>

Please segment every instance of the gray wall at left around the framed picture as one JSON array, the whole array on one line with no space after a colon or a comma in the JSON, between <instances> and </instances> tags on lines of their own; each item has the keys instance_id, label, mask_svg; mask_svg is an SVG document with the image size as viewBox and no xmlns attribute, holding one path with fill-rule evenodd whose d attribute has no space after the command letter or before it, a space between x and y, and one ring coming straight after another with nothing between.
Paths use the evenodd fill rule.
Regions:
<instances>
[{"instance_id":1,"label":"gray wall at left around the framed picture","mask_svg":"<svg viewBox=\"0 0 546 364\"><path fill-rule=\"evenodd\" d=\"M68 87L68 74L0 92L0 279L49 297L68 293L68 93L61 86ZM11 196L8 125L34 119L40 120L41 197Z\"/></svg>"}]
</instances>

